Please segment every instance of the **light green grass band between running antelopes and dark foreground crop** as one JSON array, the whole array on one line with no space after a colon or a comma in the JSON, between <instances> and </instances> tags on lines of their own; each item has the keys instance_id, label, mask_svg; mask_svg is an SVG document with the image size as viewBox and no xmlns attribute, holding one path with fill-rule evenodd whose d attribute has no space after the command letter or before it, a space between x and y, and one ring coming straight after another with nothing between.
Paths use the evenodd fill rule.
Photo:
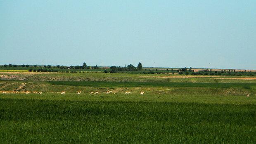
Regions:
<instances>
[{"instance_id":1,"label":"light green grass band between running antelopes and dark foreground crop","mask_svg":"<svg viewBox=\"0 0 256 144\"><path fill-rule=\"evenodd\" d=\"M232 96L221 94L0 94L0 99L28 99L52 101L96 101L96 102L178 102L201 104L255 104L256 97Z\"/></svg>"}]
</instances>

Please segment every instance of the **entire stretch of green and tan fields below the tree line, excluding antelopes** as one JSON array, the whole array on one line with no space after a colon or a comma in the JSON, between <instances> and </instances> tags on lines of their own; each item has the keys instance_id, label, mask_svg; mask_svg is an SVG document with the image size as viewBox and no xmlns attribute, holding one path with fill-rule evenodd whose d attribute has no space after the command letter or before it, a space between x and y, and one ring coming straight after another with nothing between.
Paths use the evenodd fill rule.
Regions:
<instances>
[{"instance_id":1,"label":"entire stretch of green and tan fields below the tree line, excluding antelopes","mask_svg":"<svg viewBox=\"0 0 256 144\"><path fill-rule=\"evenodd\" d=\"M0 139L256 143L256 80L239 78L255 76L0 72L0 91L43 91L0 93ZM59 93L63 90L66 94ZM107 90L113 92L105 94Z\"/></svg>"}]
</instances>

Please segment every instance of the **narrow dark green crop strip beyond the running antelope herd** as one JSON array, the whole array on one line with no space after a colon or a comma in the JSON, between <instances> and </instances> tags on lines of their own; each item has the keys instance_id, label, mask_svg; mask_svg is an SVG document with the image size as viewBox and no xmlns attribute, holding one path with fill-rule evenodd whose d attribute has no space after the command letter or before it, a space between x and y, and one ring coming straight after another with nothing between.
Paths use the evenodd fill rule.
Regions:
<instances>
[{"instance_id":1,"label":"narrow dark green crop strip beyond the running antelope herd","mask_svg":"<svg viewBox=\"0 0 256 144\"><path fill-rule=\"evenodd\" d=\"M159 82L92 82L92 81L50 81L52 85L89 87L244 87L251 89L256 83L159 83Z\"/></svg>"}]
</instances>

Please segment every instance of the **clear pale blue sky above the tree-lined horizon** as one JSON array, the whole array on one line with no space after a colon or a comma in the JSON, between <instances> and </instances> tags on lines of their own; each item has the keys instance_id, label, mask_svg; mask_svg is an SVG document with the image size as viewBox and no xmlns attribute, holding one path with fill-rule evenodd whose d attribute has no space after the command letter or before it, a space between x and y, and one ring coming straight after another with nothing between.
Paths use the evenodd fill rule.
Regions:
<instances>
[{"instance_id":1,"label":"clear pale blue sky above the tree-lined horizon","mask_svg":"<svg viewBox=\"0 0 256 144\"><path fill-rule=\"evenodd\" d=\"M256 69L256 0L0 0L0 64Z\"/></svg>"}]
</instances>

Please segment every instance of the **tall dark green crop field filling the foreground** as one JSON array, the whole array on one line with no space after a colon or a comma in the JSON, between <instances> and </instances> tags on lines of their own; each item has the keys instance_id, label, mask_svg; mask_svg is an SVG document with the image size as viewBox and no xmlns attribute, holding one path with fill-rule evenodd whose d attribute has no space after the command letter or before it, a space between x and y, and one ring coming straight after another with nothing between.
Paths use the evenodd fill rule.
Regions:
<instances>
[{"instance_id":1,"label":"tall dark green crop field filling the foreground","mask_svg":"<svg viewBox=\"0 0 256 144\"><path fill-rule=\"evenodd\" d=\"M2 143L256 143L255 105L0 99Z\"/></svg>"}]
</instances>

